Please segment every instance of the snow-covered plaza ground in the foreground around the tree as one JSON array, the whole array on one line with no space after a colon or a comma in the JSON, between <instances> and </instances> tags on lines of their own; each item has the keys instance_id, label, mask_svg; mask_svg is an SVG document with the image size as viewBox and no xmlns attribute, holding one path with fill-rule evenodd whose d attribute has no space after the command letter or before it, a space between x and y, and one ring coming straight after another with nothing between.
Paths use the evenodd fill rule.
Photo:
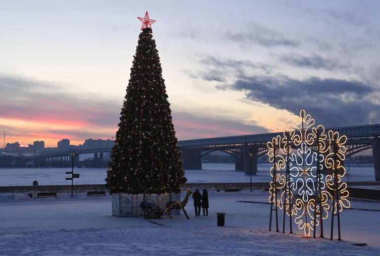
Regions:
<instances>
[{"instance_id":1,"label":"snow-covered plaza ground in the foreground around the tree","mask_svg":"<svg viewBox=\"0 0 380 256\"><path fill-rule=\"evenodd\" d=\"M294 223L295 234L269 232L270 205L238 200L268 202L268 192L211 191L209 216L195 217L189 200L190 219L155 220L163 226L111 216L110 197L0 202L0 255L379 255L379 211L344 210L343 241L336 234L329 241L329 222L325 239L302 238ZM380 209L380 203L354 201L352 207ZM225 227L217 226L219 211L226 212ZM286 232L288 227L286 219Z\"/></svg>"}]
</instances>

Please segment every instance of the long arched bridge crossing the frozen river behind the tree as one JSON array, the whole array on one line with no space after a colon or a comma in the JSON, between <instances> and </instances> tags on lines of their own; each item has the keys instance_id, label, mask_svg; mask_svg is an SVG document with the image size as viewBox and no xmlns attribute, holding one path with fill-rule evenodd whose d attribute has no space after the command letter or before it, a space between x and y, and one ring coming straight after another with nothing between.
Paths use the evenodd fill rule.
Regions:
<instances>
[{"instance_id":1,"label":"long arched bridge crossing the frozen river behind the tree","mask_svg":"<svg viewBox=\"0 0 380 256\"><path fill-rule=\"evenodd\" d=\"M358 125L328 128L340 135L346 135L346 157L364 150L372 149L375 162L375 178L380 181L380 124ZM206 139L194 139L179 141L183 164L185 169L202 169L202 156L214 151L222 151L234 157L236 170L249 174L257 172L257 159L268 152L266 143L273 137L282 133L265 133L253 135L239 135L228 137L216 137ZM76 150L74 162L79 161L80 154L96 154L103 159L103 153L110 152L112 148L97 148ZM30 156L31 160L45 158L48 161L71 161L71 151L52 152ZM252 157L250 156L252 154ZM252 166L252 167L251 167Z\"/></svg>"}]
</instances>

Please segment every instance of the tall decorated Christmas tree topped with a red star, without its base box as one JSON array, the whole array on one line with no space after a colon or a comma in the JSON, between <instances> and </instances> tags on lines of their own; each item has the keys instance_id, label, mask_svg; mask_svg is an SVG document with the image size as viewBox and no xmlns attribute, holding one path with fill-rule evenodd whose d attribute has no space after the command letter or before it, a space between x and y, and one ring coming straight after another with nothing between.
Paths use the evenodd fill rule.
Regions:
<instances>
[{"instance_id":1,"label":"tall decorated Christmas tree topped with a red star, without its base box","mask_svg":"<svg viewBox=\"0 0 380 256\"><path fill-rule=\"evenodd\" d=\"M160 57L152 39L155 20L148 12L120 113L107 171L111 192L178 193L186 182L182 155L171 120Z\"/></svg>"}]
</instances>

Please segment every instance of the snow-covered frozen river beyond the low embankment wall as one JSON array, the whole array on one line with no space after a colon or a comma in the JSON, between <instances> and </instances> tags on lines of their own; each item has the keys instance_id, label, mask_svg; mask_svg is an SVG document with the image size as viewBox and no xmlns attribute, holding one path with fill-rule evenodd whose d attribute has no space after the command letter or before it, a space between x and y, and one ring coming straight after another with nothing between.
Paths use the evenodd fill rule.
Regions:
<instances>
[{"instance_id":1,"label":"snow-covered frozen river beyond the low embankment wall","mask_svg":"<svg viewBox=\"0 0 380 256\"><path fill-rule=\"evenodd\" d=\"M234 163L203 163L202 170L185 170L189 183L249 182L250 175L235 171ZM270 164L259 164L252 182L270 182ZM375 181L374 166L346 166L350 181ZM39 185L71 184L65 178L71 168L0 168L0 186L31 186L34 180ZM107 168L74 168L80 173L76 184L105 184Z\"/></svg>"}]
</instances>

